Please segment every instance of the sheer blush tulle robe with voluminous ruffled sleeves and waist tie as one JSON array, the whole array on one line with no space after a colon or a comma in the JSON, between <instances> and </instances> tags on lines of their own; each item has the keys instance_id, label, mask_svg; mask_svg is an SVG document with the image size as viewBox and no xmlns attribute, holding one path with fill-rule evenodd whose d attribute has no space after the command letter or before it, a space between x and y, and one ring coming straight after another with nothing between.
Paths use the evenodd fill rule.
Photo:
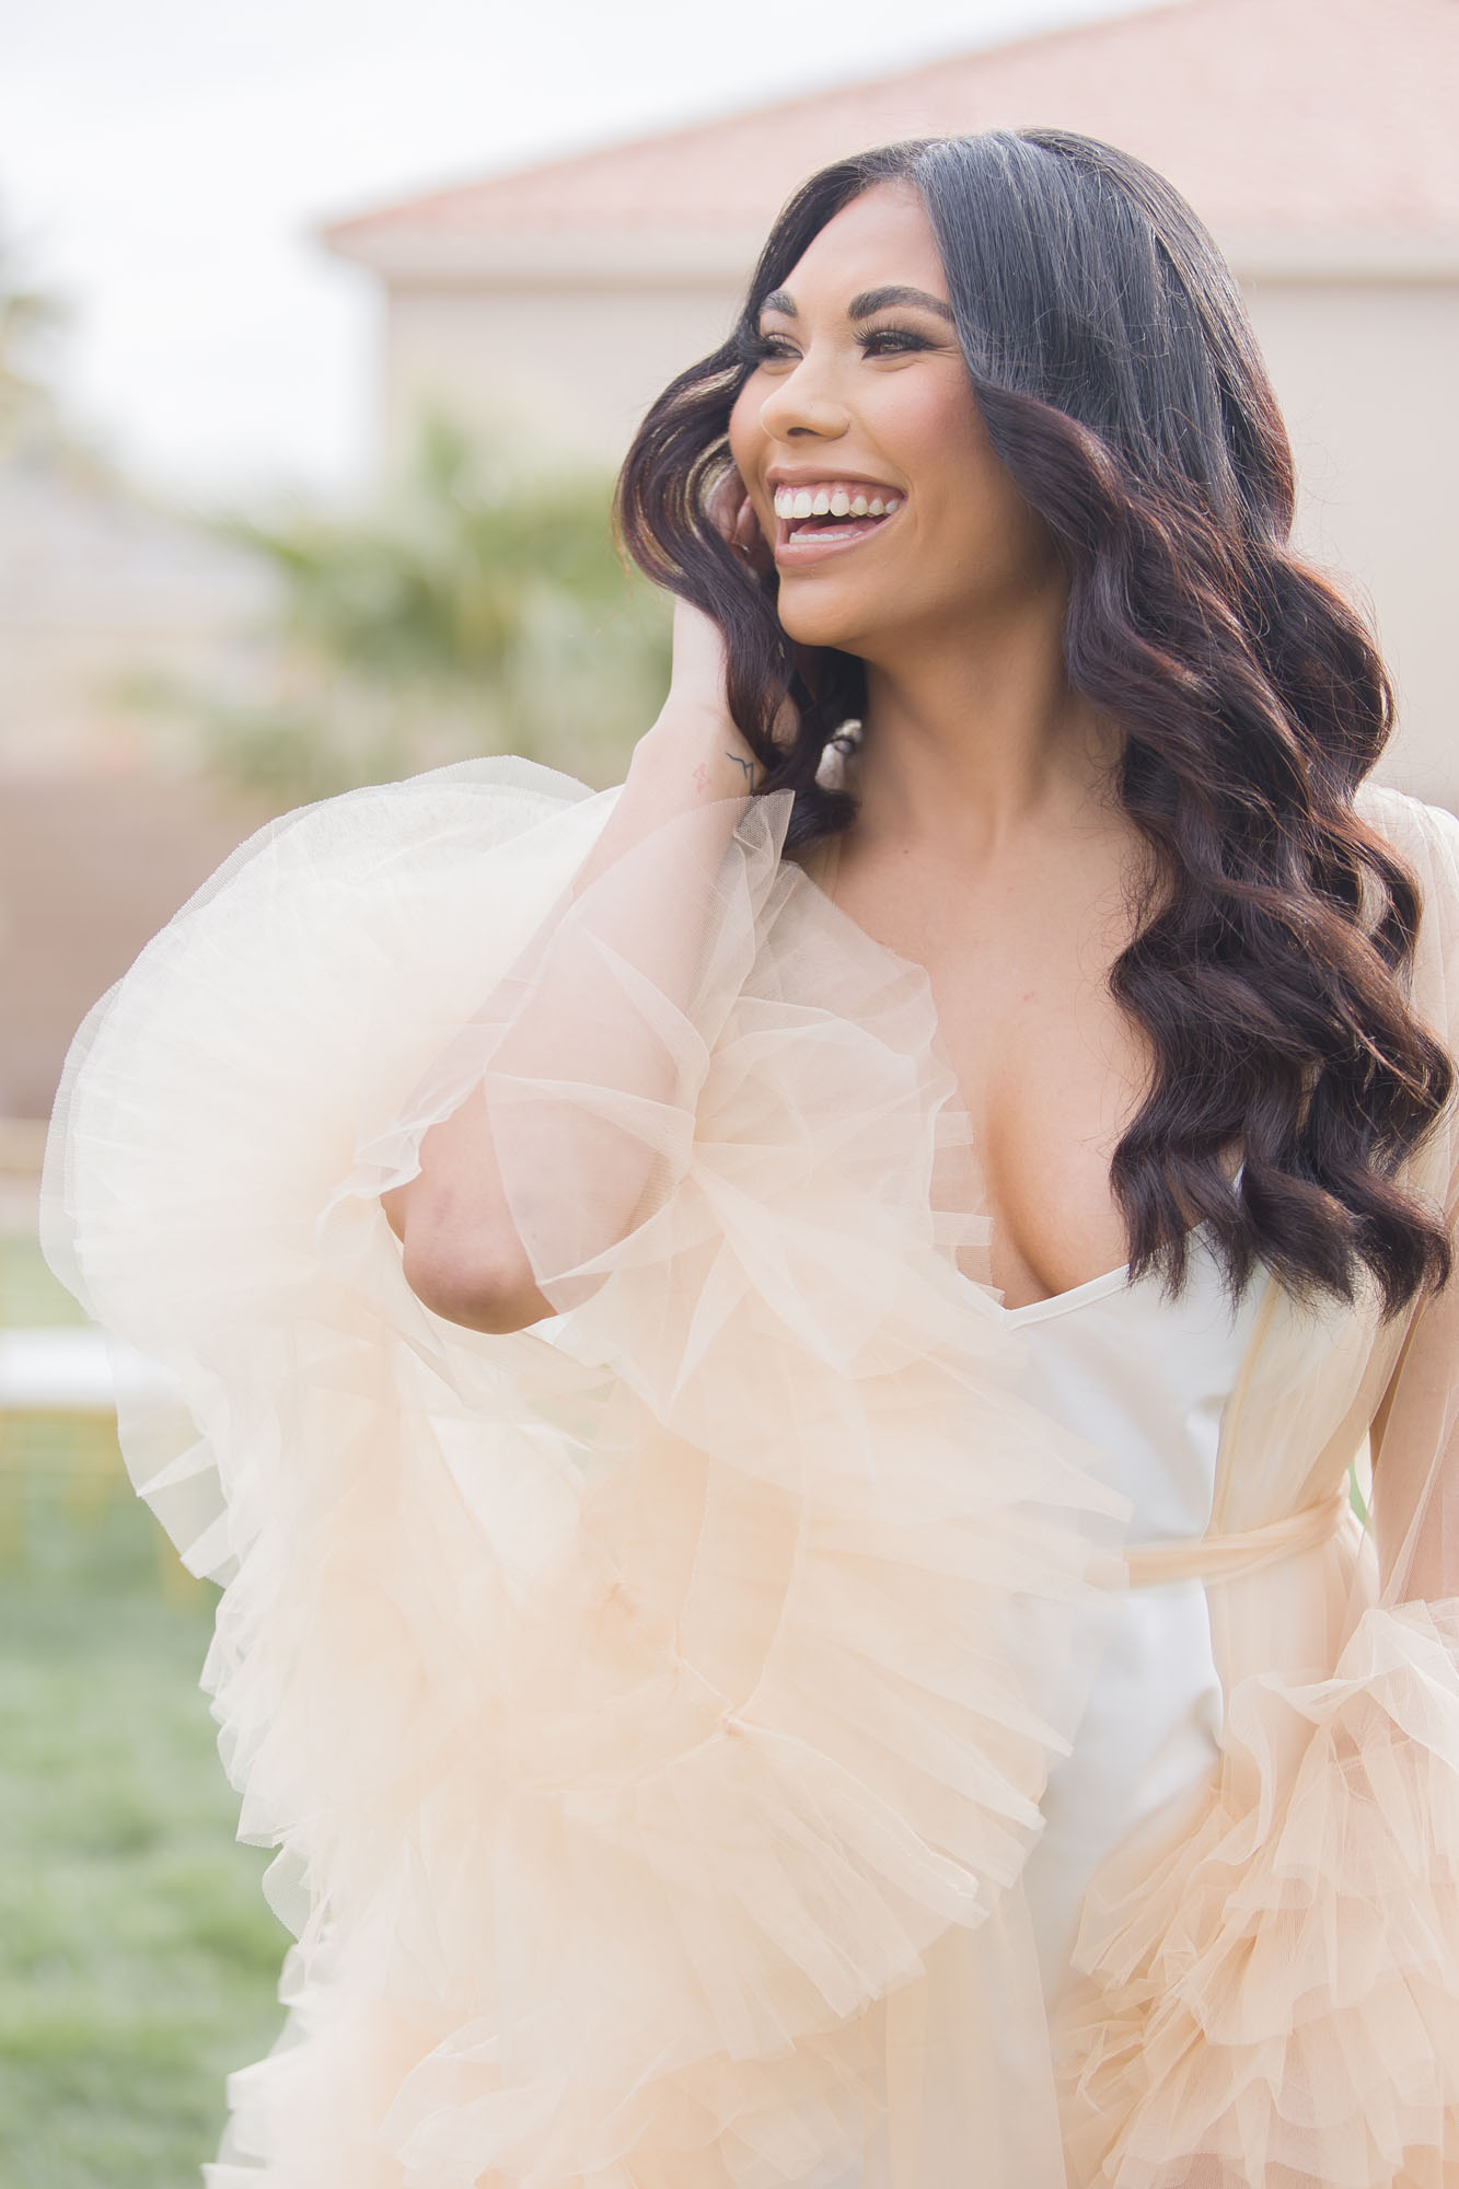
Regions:
<instances>
[{"instance_id":1,"label":"sheer blush tulle robe with voluminous ruffled sleeves and waist tie","mask_svg":"<svg viewBox=\"0 0 1459 2189\"><path fill-rule=\"evenodd\" d=\"M1209 1528L1130 1541L1019 1381L927 974L789 803L357 790L77 1038L46 1254L164 1373L125 1453L223 1583L204 1686L296 1933L208 2180L1459 2182L1459 1283L1385 1324L1257 1272ZM1448 1042L1459 823L1360 806ZM462 1101L554 1309L510 1335L429 1313L379 1204ZM1406 1175L1452 1217L1452 1112ZM1045 1784L1102 1613L1174 1578L1220 1749L1049 2003Z\"/></svg>"}]
</instances>

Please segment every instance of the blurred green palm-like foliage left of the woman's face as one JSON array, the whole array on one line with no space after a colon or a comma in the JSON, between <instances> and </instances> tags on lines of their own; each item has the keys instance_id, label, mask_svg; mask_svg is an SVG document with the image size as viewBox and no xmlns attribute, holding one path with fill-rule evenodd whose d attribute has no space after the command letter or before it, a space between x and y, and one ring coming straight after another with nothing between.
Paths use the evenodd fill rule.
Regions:
<instances>
[{"instance_id":1,"label":"blurred green palm-like foliage left of the woman's face","mask_svg":"<svg viewBox=\"0 0 1459 2189\"><path fill-rule=\"evenodd\" d=\"M226 685L151 674L134 700L278 808L478 753L620 781L668 685L670 609L618 554L611 484L429 416L364 514L221 519L276 609Z\"/></svg>"}]
</instances>

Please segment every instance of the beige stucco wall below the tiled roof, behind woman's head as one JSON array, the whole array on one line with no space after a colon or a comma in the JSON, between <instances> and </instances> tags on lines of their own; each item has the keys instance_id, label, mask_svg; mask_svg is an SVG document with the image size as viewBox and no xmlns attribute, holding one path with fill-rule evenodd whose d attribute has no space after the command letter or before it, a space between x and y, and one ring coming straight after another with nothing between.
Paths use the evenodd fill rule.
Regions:
<instances>
[{"instance_id":1,"label":"beige stucco wall below the tiled roof, behind woman's head","mask_svg":"<svg viewBox=\"0 0 1459 2189\"><path fill-rule=\"evenodd\" d=\"M1297 447L1299 538L1376 613L1400 685L1385 773L1459 808L1448 613L1459 593L1459 280L1247 280ZM394 287L383 381L397 460L427 401L515 418L548 451L613 464L642 409L734 320L730 278L697 287Z\"/></svg>"}]
</instances>

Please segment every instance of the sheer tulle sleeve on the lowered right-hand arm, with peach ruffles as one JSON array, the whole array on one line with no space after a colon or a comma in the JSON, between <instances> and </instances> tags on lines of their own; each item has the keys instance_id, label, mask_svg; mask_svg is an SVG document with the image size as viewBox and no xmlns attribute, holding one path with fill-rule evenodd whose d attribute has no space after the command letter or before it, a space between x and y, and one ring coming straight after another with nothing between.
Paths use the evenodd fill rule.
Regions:
<instances>
[{"instance_id":1,"label":"sheer tulle sleeve on the lowered right-hand arm, with peach ruffles","mask_svg":"<svg viewBox=\"0 0 1459 2189\"><path fill-rule=\"evenodd\" d=\"M1365 797L1420 882L1413 1000L1452 1051L1459 821ZM1413 1186L1452 1230L1452 1105ZM1459 2180L1459 1274L1406 1327L1293 1318L1290 1359L1244 1460L1308 1502L1293 1423L1334 1475L1371 1423L1371 1537L1227 1607L1220 1784L1091 1889L1062 2042L1073 2178L1100 2189Z\"/></svg>"}]
</instances>

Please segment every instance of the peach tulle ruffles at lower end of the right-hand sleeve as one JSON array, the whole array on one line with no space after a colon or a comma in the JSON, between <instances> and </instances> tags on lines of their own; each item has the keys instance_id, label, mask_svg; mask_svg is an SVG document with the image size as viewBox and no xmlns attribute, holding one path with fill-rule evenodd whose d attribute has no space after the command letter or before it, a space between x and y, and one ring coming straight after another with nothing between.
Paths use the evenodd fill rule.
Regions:
<instances>
[{"instance_id":1,"label":"peach tulle ruffles at lower end of the right-hand sleeve","mask_svg":"<svg viewBox=\"0 0 1459 2189\"><path fill-rule=\"evenodd\" d=\"M1084 1902L1071 2178L1452 2185L1459 1600L1369 1609L1332 1679L1244 1681L1227 1751L1253 1802L1187 1815L1159 1863L1122 1852Z\"/></svg>"}]
</instances>

